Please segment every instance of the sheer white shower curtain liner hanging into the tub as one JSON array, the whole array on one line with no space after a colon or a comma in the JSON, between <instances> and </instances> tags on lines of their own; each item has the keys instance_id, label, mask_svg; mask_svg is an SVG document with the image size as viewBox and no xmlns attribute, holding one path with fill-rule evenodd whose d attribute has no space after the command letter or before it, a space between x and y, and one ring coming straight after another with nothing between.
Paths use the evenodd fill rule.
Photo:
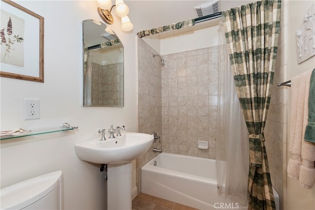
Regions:
<instances>
[{"instance_id":1,"label":"sheer white shower curtain liner hanging into the tub","mask_svg":"<svg viewBox=\"0 0 315 210\"><path fill-rule=\"evenodd\" d=\"M218 193L233 201L248 203L248 130L234 85L221 20L219 29L219 106L216 165Z\"/></svg>"}]
</instances>

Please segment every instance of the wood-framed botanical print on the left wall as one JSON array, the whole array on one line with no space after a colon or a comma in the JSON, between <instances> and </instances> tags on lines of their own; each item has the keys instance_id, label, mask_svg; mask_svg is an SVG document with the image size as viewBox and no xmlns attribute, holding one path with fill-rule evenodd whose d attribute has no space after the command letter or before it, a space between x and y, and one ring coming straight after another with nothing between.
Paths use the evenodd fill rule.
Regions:
<instances>
[{"instance_id":1,"label":"wood-framed botanical print on the left wall","mask_svg":"<svg viewBox=\"0 0 315 210\"><path fill-rule=\"evenodd\" d=\"M43 83L44 18L11 0L0 8L0 76Z\"/></svg>"}]
</instances>

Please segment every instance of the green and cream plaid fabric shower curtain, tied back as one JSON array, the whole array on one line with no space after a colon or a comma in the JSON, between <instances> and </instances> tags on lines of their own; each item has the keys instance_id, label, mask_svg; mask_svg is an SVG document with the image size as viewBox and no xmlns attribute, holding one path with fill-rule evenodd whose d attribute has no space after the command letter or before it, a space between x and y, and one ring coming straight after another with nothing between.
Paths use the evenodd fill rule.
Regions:
<instances>
[{"instance_id":1,"label":"green and cream plaid fabric shower curtain, tied back","mask_svg":"<svg viewBox=\"0 0 315 210\"><path fill-rule=\"evenodd\" d=\"M222 12L225 38L249 131L249 210L275 210L264 127L278 51L281 0L262 0Z\"/></svg>"}]
</instances>

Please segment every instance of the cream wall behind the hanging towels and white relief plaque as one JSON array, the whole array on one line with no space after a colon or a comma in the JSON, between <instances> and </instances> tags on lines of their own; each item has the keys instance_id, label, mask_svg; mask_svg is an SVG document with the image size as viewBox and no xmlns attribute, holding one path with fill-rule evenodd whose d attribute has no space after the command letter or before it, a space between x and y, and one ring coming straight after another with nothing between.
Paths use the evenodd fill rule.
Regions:
<instances>
[{"instance_id":1,"label":"cream wall behind the hanging towels and white relief plaque","mask_svg":"<svg viewBox=\"0 0 315 210\"><path fill-rule=\"evenodd\" d=\"M295 31L300 28L303 21L303 17L311 5L314 4L314 0L288 0L288 16L287 23L287 79L306 72L315 68L315 57L310 58L300 64L297 64L296 59L296 42ZM287 95L287 119L288 119L288 138L290 134L290 115L291 115L291 97L290 89L288 89ZM289 141L289 140L288 140ZM289 144L288 144L289 145ZM287 158L289 155L288 148ZM312 189L305 189L300 186L298 180L293 180L287 177L287 210L313 210L315 209L315 186Z\"/></svg>"}]
</instances>

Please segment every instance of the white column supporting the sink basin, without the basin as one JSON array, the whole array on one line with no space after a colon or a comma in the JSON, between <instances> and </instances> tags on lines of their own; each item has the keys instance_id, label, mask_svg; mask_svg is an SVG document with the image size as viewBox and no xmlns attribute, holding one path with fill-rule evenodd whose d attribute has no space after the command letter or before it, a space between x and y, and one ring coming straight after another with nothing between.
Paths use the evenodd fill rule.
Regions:
<instances>
[{"instance_id":1,"label":"white column supporting the sink basin, without the basin","mask_svg":"<svg viewBox=\"0 0 315 210\"><path fill-rule=\"evenodd\" d=\"M107 209L131 210L132 163L107 165Z\"/></svg>"}]
</instances>

